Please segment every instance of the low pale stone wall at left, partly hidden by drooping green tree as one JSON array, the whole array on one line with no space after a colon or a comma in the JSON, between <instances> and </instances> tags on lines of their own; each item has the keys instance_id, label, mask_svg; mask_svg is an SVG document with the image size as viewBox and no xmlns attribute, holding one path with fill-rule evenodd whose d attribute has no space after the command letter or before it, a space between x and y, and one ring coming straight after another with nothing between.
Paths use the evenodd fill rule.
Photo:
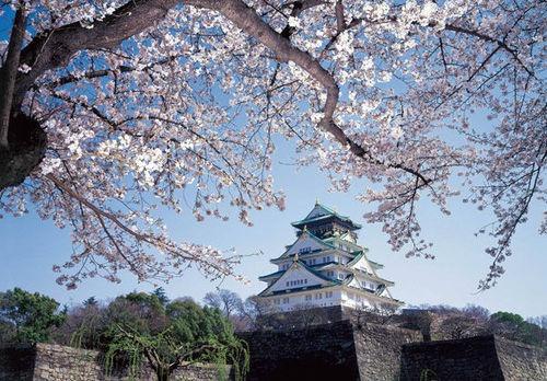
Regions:
<instances>
[{"instance_id":1,"label":"low pale stone wall at left, partly hidden by drooping green tree","mask_svg":"<svg viewBox=\"0 0 547 381\"><path fill-rule=\"evenodd\" d=\"M35 347L0 349L0 381L125 381L127 369L117 367L106 376L101 354L60 345L37 344ZM232 379L230 367L185 365L176 369L172 380L209 381ZM152 369L143 366L141 381L155 380Z\"/></svg>"}]
</instances>

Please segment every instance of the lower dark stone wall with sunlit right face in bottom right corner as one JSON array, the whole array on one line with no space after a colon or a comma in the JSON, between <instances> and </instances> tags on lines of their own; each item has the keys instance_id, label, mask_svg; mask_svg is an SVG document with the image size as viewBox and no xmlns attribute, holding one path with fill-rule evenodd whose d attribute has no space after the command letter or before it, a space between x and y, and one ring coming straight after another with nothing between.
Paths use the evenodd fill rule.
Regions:
<instances>
[{"instance_id":1,"label":"lower dark stone wall with sunlit right face in bottom right corner","mask_svg":"<svg viewBox=\"0 0 547 381\"><path fill-rule=\"evenodd\" d=\"M400 380L547 380L539 348L493 335L403 346Z\"/></svg>"}]
</instances>

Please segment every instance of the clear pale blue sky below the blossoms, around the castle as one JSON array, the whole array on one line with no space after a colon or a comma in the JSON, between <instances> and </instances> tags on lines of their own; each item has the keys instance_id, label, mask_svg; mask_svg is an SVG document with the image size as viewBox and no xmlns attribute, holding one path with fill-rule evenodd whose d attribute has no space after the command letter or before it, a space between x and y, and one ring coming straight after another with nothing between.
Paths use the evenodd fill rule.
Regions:
<instances>
[{"instance_id":1,"label":"clear pale blue sky below the blossoms, around the castle","mask_svg":"<svg viewBox=\"0 0 547 381\"><path fill-rule=\"evenodd\" d=\"M0 18L0 38L5 37L7 31L5 18ZM363 223L362 215L373 208L354 199L354 195L365 188L365 183L356 183L348 194L328 193L328 183L317 169L296 172L294 166L281 164L281 158L283 163L291 161L287 158L293 155L293 150L290 145L278 147L274 171L276 187L288 195L283 212L277 209L255 212L252 215L253 228L244 227L236 218L228 222L206 219L198 223L189 212L182 218L165 213L165 220L177 239L212 244L219 249L235 247L240 254L264 253L245 258L238 268L249 279L248 285L231 279L220 285L242 297L257 293L264 288L257 277L276 269L269 259L280 255L283 246L292 243L295 236L290 222L303 218L316 198L360 223ZM528 223L519 228L513 243L514 256L505 262L507 274L499 285L480 293L476 293L477 284L490 264L484 249L490 242L488 238L475 236L474 232L489 222L492 216L463 205L461 200L454 200L450 206L452 216L445 217L427 203L419 205L423 236L435 243L434 261L408 259L401 253L393 253L381 227L363 223L360 243L369 247L371 259L385 265L381 275L395 281L392 289L394 297L407 304L446 303L463 307L476 303L492 312L505 310L524 316L547 314L547 240L537 232L544 206L533 205ZM56 275L51 266L63 263L70 255L69 234L68 230L59 230L51 221L43 221L33 212L16 219L0 219L0 290L22 287L71 304L90 296L109 299L133 289L153 289L152 285L139 285L132 276L125 275L120 285L94 279L74 291L66 291L55 282ZM207 291L214 290L219 284L211 284L198 273L189 272L185 277L161 286L171 298L190 296L201 300Z\"/></svg>"}]
</instances>

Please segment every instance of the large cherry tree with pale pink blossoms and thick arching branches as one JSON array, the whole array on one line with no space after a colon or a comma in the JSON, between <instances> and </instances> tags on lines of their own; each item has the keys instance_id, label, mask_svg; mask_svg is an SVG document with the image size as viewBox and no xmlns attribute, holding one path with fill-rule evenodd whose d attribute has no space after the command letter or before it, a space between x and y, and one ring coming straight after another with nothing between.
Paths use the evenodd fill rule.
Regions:
<instances>
[{"instance_id":1,"label":"large cherry tree with pale pink blossoms and thick arching branches","mask_svg":"<svg viewBox=\"0 0 547 381\"><path fill-rule=\"evenodd\" d=\"M237 256L170 239L156 207L251 224L283 208L279 137L334 189L372 183L396 251L432 256L419 199L491 210L496 284L545 206L545 14L538 0L2 0L0 208L72 230L58 281L216 278ZM482 118L481 116L485 116ZM485 120L482 120L485 119ZM545 212L544 212L545 213ZM547 231L546 219L539 227Z\"/></svg>"}]
</instances>

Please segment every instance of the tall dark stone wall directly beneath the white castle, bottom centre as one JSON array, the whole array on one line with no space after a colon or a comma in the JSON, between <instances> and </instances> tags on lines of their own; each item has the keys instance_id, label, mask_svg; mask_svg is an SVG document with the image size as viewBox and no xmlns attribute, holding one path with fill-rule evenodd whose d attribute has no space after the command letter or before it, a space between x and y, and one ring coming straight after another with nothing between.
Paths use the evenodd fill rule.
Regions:
<instances>
[{"instance_id":1,"label":"tall dark stone wall directly beneath the white castle, bottom centre","mask_svg":"<svg viewBox=\"0 0 547 381\"><path fill-rule=\"evenodd\" d=\"M241 334L249 345L249 380L394 380L400 346L419 333L339 321L301 330Z\"/></svg>"}]
</instances>

